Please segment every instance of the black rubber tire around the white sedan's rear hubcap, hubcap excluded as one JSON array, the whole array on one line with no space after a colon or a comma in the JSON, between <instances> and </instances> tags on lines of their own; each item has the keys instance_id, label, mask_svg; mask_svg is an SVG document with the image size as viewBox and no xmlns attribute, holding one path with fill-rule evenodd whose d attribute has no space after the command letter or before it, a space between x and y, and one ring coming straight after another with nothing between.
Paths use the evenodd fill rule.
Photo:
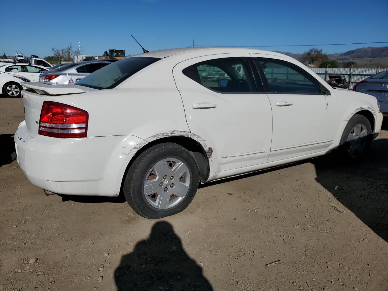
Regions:
<instances>
[{"instance_id":1,"label":"black rubber tire around the white sedan's rear hubcap, hubcap excluded","mask_svg":"<svg viewBox=\"0 0 388 291\"><path fill-rule=\"evenodd\" d=\"M156 163L168 158L179 159L187 166L190 175L190 183L188 185L187 193L178 204L171 208L159 209L153 207L147 201L144 195L144 181L147 173L149 173ZM156 219L174 215L185 210L194 198L198 185L199 170L194 157L184 147L171 142L166 142L150 147L135 159L126 174L123 192L126 201L136 213L145 218ZM157 187L159 187L159 185Z\"/></svg>"}]
</instances>

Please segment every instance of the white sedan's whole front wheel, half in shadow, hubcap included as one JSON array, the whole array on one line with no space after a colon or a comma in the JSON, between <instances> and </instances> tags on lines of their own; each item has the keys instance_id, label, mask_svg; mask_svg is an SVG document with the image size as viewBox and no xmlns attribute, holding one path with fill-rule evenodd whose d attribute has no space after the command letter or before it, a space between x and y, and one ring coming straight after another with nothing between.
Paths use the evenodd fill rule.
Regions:
<instances>
[{"instance_id":1,"label":"white sedan's whole front wheel, half in shadow, hubcap included","mask_svg":"<svg viewBox=\"0 0 388 291\"><path fill-rule=\"evenodd\" d=\"M341 137L341 155L348 161L359 161L365 156L371 142L371 123L365 116L354 114Z\"/></svg>"}]
</instances>

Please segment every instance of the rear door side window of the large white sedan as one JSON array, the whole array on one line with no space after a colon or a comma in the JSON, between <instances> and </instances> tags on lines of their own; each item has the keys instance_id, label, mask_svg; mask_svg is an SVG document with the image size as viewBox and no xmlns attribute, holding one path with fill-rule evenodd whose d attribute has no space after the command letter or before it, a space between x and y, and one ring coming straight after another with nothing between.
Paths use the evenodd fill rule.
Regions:
<instances>
[{"instance_id":1,"label":"rear door side window of the large white sedan","mask_svg":"<svg viewBox=\"0 0 388 291\"><path fill-rule=\"evenodd\" d=\"M185 68L183 74L206 88L222 93L256 92L245 57L214 59Z\"/></svg>"}]
</instances>

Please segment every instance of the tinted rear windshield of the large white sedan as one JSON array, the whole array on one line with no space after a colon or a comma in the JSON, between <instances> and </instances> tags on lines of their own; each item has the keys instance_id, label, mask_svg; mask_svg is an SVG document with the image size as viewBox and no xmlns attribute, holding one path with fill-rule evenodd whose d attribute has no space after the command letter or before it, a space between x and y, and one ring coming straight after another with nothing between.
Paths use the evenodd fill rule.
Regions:
<instances>
[{"instance_id":1,"label":"tinted rear windshield of the large white sedan","mask_svg":"<svg viewBox=\"0 0 388 291\"><path fill-rule=\"evenodd\" d=\"M114 62L76 82L76 85L95 88L114 88L122 81L160 59L156 57L129 57Z\"/></svg>"}]
</instances>

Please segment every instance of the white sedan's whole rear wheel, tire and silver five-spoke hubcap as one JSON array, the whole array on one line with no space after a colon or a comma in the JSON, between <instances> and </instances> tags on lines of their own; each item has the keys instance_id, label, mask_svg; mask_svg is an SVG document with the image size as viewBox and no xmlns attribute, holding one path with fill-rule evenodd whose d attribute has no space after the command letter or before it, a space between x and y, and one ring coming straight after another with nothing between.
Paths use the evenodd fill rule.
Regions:
<instances>
[{"instance_id":1,"label":"white sedan's whole rear wheel, tire and silver five-spoke hubcap","mask_svg":"<svg viewBox=\"0 0 388 291\"><path fill-rule=\"evenodd\" d=\"M198 185L194 157L184 147L168 142L150 147L135 159L126 174L123 192L133 210L155 219L185 210Z\"/></svg>"}]
</instances>

